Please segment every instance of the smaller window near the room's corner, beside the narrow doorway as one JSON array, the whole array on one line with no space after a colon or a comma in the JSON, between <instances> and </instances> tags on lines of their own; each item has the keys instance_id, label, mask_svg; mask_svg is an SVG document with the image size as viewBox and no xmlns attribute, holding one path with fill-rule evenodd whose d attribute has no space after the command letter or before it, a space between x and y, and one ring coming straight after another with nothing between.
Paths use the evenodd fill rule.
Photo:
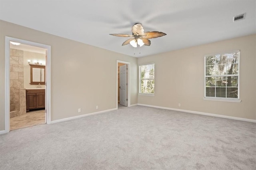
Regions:
<instances>
[{"instance_id":1,"label":"smaller window near the room's corner, beside the narrow doorway","mask_svg":"<svg viewBox=\"0 0 256 170\"><path fill-rule=\"evenodd\" d=\"M155 91L155 64L139 66L140 94L154 95Z\"/></svg>"}]
</instances>

